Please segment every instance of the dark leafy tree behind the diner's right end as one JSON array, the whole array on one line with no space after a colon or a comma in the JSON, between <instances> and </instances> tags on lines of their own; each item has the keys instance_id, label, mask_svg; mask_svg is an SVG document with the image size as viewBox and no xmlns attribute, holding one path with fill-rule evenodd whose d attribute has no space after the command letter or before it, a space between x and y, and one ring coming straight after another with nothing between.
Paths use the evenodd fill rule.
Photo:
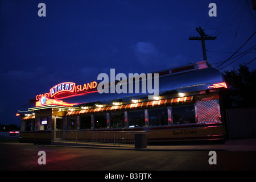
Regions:
<instances>
[{"instance_id":1,"label":"dark leafy tree behind the diner's right end","mask_svg":"<svg viewBox=\"0 0 256 182\"><path fill-rule=\"evenodd\" d=\"M247 65L240 64L240 68L237 71L234 69L225 71L223 76L228 85L228 89L222 91L222 99L225 109L255 107L255 69L249 71Z\"/></svg>"}]
</instances>

